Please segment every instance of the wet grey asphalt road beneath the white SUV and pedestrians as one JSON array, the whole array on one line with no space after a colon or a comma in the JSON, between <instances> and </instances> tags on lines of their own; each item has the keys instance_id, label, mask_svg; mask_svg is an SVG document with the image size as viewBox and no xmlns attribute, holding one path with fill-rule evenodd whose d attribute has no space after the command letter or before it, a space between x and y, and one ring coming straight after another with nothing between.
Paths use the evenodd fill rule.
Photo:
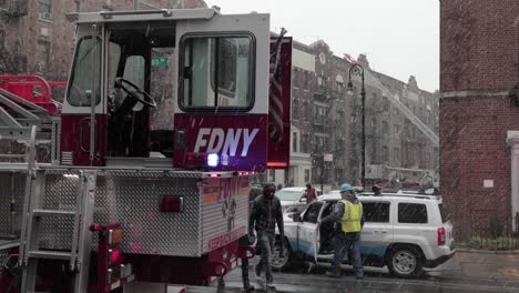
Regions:
<instances>
[{"instance_id":1,"label":"wet grey asphalt road beneath the white SUV and pedestrians","mask_svg":"<svg viewBox=\"0 0 519 293\"><path fill-rule=\"evenodd\" d=\"M457 253L441 266L429 270L418 279L396 279L386 267L365 267L366 277L357 281L353 270L344 270L340 279L327 277L326 269L306 267L276 272L277 292L519 292L519 254ZM256 292L266 292L251 271ZM226 287L220 292L241 292L240 269L226 277ZM187 292L217 292L216 283L210 287L191 286Z\"/></svg>"}]
</instances>

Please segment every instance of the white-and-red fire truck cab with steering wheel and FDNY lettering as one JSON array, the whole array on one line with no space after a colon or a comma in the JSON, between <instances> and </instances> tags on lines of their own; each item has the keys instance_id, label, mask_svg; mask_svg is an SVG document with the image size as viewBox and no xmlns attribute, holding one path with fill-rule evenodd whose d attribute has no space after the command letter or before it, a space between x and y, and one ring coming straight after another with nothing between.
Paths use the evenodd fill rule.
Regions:
<instances>
[{"instance_id":1,"label":"white-and-red fire truck cab with steering wheel and FDNY lettering","mask_svg":"<svg viewBox=\"0 0 519 293\"><path fill-rule=\"evenodd\" d=\"M182 169L266 168L268 14L85 13L77 42L62 164L129 166L153 154Z\"/></svg>"}]
</instances>

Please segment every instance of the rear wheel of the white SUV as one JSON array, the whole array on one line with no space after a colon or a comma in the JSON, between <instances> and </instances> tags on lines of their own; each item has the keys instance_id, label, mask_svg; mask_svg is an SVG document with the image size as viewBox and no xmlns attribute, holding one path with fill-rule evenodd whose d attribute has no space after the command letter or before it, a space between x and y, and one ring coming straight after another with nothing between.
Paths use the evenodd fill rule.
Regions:
<instances>
[{"instance_id":1,"label":"rear wheel of the white SUV","mask_svg":"<svg viewBox=\"0 0 519 293\"><path fill-rule=\"evenodd\" d=\"M415 277L423 272L424 259L419 249L411 245L398 245L388 253L386 264L395 276Z\"/></svg>"}]
</instances>

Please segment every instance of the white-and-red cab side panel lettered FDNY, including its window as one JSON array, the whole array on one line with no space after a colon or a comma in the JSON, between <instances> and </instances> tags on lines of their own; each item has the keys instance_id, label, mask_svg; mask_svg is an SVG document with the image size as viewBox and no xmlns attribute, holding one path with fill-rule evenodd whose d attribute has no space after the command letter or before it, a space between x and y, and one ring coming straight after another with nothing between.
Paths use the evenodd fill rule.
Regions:
<instances>
[{"instance_id":1,"label":"white-and-red cab side panel lettered FDNY, including its window","mask_svg":"<svg viewBox=\"0 0 519 293\"><path fill-rule=\"evenodd\" d=\"M265 170L269 16L215 14L177 22L176 32L173 165Z\"/></svg>"}]
</instances>

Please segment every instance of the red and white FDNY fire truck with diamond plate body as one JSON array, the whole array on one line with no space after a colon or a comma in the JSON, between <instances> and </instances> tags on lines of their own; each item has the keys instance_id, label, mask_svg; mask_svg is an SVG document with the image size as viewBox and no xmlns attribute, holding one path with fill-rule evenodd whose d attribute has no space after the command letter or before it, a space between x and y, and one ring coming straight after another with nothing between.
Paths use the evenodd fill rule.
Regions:
<instances>
[{"instance_id":1,"label":"red and white FDNY fire truck with diamond plate body","mask_svg":"<svg viewBox=\"0 0 519 293\"><path fill-rule=\"evenodd\" d=\"M0 78L0 135L27 152L0 164L0 292L222 277L251 255L251 176L288 166L291 38L217 9L69 17L62 104Z\"/></svg>"}]
</instances>

